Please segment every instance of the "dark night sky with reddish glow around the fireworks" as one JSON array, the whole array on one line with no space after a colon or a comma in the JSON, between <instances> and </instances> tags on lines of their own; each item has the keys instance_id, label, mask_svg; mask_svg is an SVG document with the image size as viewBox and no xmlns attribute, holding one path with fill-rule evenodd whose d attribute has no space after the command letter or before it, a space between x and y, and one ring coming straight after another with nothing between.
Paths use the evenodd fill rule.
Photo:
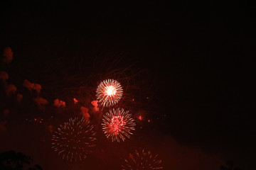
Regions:
<instances>
[{"instance_id":1,"label":"dark night sky with reddish glow around the fireworks","mask_svg":"<svg viewBox=\"0 0 256 170\"><path fill-rule=\"evenodd\" d=\"M158 153L168 170L219 169L227 160L254 168L255 5L1 3L0 50L11 47L14 60L0 71L23 94L18 102L1 84L0 118L7 122L1 152L23 152L50 170L118 169L119 153L138 146ZM143 112L146 119L137 120L143 128L119 145L100 134L92 157L67 166L50 149L48 125L78 115L74 97L92 107L97 83L107 78L124 84L120 106L134 116ZM33 103L36 94L22 86L24 79L42 85L46 108ZM54 108L55 98L67 107Z\"/></svg>"}]
</instances>

